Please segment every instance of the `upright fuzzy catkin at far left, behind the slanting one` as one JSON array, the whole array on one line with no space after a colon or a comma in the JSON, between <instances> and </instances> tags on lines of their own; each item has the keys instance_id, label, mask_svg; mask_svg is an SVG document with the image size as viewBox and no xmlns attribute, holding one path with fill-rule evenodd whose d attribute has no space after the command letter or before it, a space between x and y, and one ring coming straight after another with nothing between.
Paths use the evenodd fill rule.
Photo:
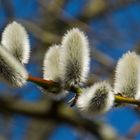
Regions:
<instances>
[{"instance_id":1,"label":"upright fuzzy catkin at far left, behind the slanting one","mask_svg":"<svg viewBox=\"0 0 140 140\"><path fill-rule=\"evenodd\" d=\"M1 44L6 47L21 63L28 63L30 56L30 43L25 28L12 22L6 26L2 33Z\"/></svg>"}]
</instances>

